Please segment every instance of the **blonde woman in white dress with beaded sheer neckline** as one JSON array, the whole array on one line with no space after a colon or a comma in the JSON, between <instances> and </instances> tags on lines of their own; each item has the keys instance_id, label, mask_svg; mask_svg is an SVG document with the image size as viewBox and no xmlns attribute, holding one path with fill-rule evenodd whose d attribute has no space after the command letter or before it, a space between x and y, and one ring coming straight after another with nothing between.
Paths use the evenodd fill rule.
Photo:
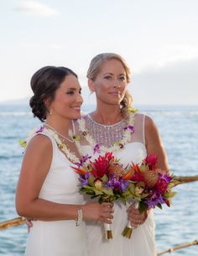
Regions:
<instances>
[{"instance_id":1,"label":"blonde woman in white dress with beaded sheer neckline","mask_svg":"<svg viewBox=\"0 0 198 256\"><path fill-rule=\"evenodd\" d=\"M159 168L168 170L167 157L154 121L141 113L129 111L132 97L128 83L130 70L122 56L112 53L96 55L87 71L88 85L96 93L96 110L76 123L76 133L81 141L76 145L81 153L98 154L112 152L123 165L132 161L140 163L147 154L157 154ZM132 109L133 110L133 109ZM132 129L128 133L128 129ZM85 133L86 131L86 133ZM131 221L131 239L121 233L127 220ZM88 221L88 252L94 256L154 256L153 212L140 214L135 206L114 205L112 231L113 239L102 238L102 225Z\"/></svg>"}]
</instances>

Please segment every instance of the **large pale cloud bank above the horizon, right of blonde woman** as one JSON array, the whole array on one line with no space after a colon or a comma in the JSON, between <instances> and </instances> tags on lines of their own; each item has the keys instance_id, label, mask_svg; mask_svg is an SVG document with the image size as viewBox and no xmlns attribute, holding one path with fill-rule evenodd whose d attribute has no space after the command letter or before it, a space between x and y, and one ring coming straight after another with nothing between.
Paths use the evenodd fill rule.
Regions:
<instances>
[{"instance_id":1,"label":"large pale cloud bank above the horizon, right of blonde woman","mask_svg":"<svg viewBox=\"0 0 198 256\"><path fill-rule=\"evenodd\" d=\"M148 104L198 104L198 58L149 67L133 74L131 91L136 102Z\"/></svg>"}]
</instances>

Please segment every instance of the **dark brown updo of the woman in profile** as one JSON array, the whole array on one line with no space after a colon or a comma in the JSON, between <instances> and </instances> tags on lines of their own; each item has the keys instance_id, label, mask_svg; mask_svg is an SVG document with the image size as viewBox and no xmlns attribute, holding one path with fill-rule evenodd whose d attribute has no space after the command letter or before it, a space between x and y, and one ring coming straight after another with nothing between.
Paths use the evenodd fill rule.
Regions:
<instances>
[{"instance_id":1,"label":"dark brown updo of the woman in profile","mask_svg":"<svg viewBox=\"0 0 198 256\"><path fill-rule=\"evenodd\" d=\"M49 112L45 101L48 100L48 103L53 102L55 91L60 88L65 76L69 75L78 78L74 71L63 66L44 66L34 73L30 81L34 96L29 100L29 106L32 108L34 118L39 118L41 122L45 121L47 112Z\"/></svg>"}]
</instances>

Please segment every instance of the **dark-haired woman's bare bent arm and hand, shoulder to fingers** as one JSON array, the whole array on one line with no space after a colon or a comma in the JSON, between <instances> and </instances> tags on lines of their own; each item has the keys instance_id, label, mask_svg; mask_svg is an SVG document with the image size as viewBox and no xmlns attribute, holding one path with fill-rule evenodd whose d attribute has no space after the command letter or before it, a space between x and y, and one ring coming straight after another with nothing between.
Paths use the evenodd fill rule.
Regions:
<instances>
[{"instance_id":1,"label":"dark-haired woman's bare bent arm and hand, shoulder to fingers","mask_svg":"<svg viewBox=\"0 0 198 256\"><path fill-rule=\"evenodd\" d=\"M112 204L97 202L80 205L65 205L39 198L39 191L50 170L53 157L50 139L37 135L29 142L23 157L21 174L16 193L16 209L18 215L44 221L76 219L81 207L84 219L101 222L112 218Z\"/></svg>"}]
</instances>

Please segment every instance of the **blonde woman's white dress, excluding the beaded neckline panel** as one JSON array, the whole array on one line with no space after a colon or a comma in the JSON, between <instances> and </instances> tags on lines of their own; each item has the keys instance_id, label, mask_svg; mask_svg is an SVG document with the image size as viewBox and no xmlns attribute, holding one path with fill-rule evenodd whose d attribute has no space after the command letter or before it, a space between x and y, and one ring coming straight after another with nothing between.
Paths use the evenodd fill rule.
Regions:
<instances>
[{"instance_id":1,"label":"blonde woman's white dress, excluding the beaded neckline panel","mask_svg":"<svg viewBox=\"0 0 198 256\"><path fill-rule=\"evenodd\" d=\"M88 118L88 119L87 119ZM91 118L89 115L86 120ZM93 120L92 120L93 122ZM110 131L111 131L111 126ZM89 129L91 130L91 129ZM96 129L95 129L96 131ZM91 154L97 158L98 154L93 154L93 149L88 144L81 145L81 153ZM104 154L101 152L100 154ZM144 116L135 115L134 133L132 140L126 144L123 149L113 153L117 159L120 159L123 165L130 162L140 163L147 155L144 141ZM89 200L89 199L88 199ZM148 214L147 220L138 228L133 229L132 238L128 239L122 236L123 228L128 220L128 206L122 202L114 203L114 213L112 220L113 239L104 238L104 229L102 223L86 222L87 228L87 248L89 256L155 256L156 248L154 241L154 218L153 212Z\"/></svg>"}]
</instances>

